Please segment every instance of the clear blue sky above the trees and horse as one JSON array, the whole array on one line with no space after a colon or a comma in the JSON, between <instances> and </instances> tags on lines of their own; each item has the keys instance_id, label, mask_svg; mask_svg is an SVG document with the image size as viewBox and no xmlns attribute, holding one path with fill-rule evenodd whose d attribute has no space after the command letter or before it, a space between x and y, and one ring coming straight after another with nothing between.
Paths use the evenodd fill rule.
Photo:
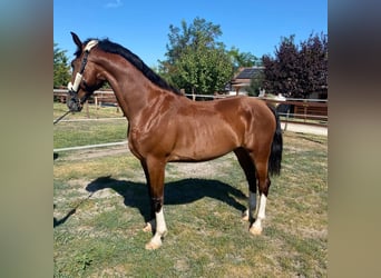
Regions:
<instances>
[{"instance_id":1,"label":"clear blue sky above the trees and horse","mask_svg":"<svg viewBox=\"0 0 381 278\"><path fill-rule=\"evenodd\" d=\"M55 0L53 40L72 59L70 31L81 40L109 38L148 66L165 59L169 24L196 18L219 24L219 41L256 57L274 54L281 37L295 42L328 33L328 0Z\"/></svg>"}]
</instances>

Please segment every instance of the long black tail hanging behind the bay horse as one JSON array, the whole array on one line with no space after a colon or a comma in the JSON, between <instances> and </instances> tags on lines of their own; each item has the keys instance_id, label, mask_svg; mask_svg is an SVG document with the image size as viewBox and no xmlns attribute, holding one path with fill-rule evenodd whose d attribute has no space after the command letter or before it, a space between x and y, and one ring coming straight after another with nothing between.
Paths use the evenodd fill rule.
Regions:
<instances>
[{"instance_id":1,"label":"long black tail hanging behind the bay horse","mask_svg":"<svg viewBox=\"0 0 381 278\"><path fill-rule=\"evenodd\" d=\"M281 162L282 162L282 151L283 151L283 137L280 116L277 115L275 108L268 106L268 108L274 113L276 120L276 130L273 138L273 143L271 146L271 153L268 159L268 172L271 175L281 173Z\"/></svg>"}]
</instances>

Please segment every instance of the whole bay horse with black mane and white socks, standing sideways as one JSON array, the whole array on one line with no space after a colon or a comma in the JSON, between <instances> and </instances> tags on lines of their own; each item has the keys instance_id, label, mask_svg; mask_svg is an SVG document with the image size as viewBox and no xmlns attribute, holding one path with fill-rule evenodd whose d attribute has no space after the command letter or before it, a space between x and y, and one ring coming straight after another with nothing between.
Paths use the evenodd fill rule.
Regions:
<instances>
[{"instance_id":1,"label":"whole bay horse with black mane and white socks, standing sideways","mask_svg":"<svg viewBox=\"0 0 381 278\"><path fill-rule=\"evenodd\" d=\"M149 69L136 54L108 39L81 41L71 62L67 106L80 111L106 81L128 120L128 147L140 161L150 197L153 238L146 249L162 246L164 181L167 162L197 162L234 151L248 182L250 232L261 235L268 195L268 173L280 175L283 139L276 111L263 100L231 97L192 101ZM258 195L256 195L258 188Z\"/></svg>"}]
</instances>

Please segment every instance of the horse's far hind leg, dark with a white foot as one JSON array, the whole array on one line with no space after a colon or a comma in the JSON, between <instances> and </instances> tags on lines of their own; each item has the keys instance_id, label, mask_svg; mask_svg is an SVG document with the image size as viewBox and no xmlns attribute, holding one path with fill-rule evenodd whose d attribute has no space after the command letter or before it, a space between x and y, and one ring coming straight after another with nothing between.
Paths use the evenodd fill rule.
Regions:
<instances>
[{"instance_id":1,"label":"horse's far hind leg, dark with a white foot","mask_svg":"<svg viewBox=\"0 0 381 278\"><path fill-rule=\"evenodd\" d=\"M243 212L243 220L253 222L257 211L255 165L247 150L238 148L234 150L241 168L244 170L248 183L248 208Z\"/></svg>"}]
</instances>

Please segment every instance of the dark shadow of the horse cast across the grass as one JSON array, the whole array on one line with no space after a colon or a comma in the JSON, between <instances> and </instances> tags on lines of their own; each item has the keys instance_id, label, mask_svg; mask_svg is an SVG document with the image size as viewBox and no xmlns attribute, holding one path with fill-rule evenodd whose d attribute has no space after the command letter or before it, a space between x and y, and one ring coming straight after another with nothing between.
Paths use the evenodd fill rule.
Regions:
<instances>
[{"instance_id":1,"label":"dark shadow of the horse cast across the grass","mask_svg":"<svg viewBox=\"0 0 381 278\"><path fill-rule=\"evenodd\" d=\"M86 190L92 195L106 188L123 196L126 207L137 208L145 221L150 220L150 202L146 183L118 180L107 176L91 181ZM164 206L192 203L205 197L225 202L240 211L246 209L237 199L247 197L241 190L218 180L183 179L166 182L164 187Z\"/></svg>"}]
</instances>

